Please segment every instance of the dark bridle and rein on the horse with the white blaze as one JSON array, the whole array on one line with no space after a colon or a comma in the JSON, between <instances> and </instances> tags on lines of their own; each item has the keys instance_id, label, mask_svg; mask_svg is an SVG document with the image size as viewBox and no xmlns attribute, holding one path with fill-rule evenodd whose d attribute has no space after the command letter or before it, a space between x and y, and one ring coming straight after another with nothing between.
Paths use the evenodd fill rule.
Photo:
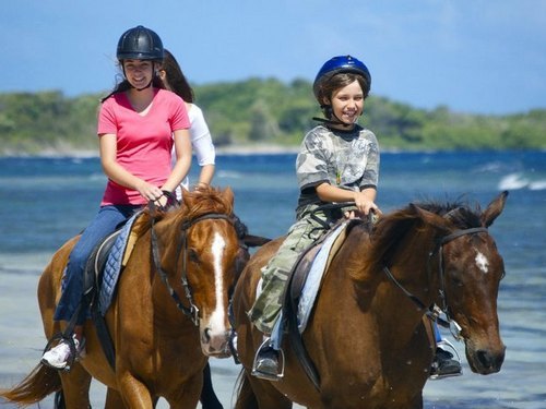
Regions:
<instances>
[{"instance_id":1,"label":"dark bridle and rein on the horse with the white blaze","mask_svg":"<svg viewBox=\"0 0 546 409\"><path fill-rule=\"evenodd\" d=\"M150 203L150 207L154 209L154 203ZM181 225L181 237L180 237L180 242L178 243L178 250L177 254L178 256L182 254L182 272L180 276L180 282L182 284L183 287L183 292L186 296L186 299L188 300L189 306L186 306L176 290L170 286L168 281L168 275L167 273L163 269L162 264L161 264L161 255L159 255L159 245L158 245L158 239L157 239L157 233L154 229L155 226L155 218L151 218L151 246L152 246L152 256L154 260L154 266L157 273L159 274L159 278L165 284L167 287L167 290L170 293L170 297L173 300L175 300L176 305L185 315L187 315L195 326L199 326L199 308L195 305L193 302L193 296L191 292L191 286L188 281L188 274L187 274L187 265L188 265L188 242L187 242L187 237L188 237L188 230L197 225L200 221L203 220L209 220L209 219L224 219L229 221L232 225L234 224L234 220L232 217L221 214L221 213L210 213L200 217L195 217L194 219L191 220L186 220ZM178 260L177 256L177 260Z\"/></svg>"}]
</instances>

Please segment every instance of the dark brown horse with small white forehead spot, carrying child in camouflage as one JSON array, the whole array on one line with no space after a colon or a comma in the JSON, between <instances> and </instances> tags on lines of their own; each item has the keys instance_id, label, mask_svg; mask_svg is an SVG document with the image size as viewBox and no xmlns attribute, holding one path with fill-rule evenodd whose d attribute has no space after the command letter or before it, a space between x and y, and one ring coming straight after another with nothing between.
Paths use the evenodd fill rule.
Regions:
<instances>
[{"instance_id":1,"label":"dark brown horse with small white forehead spot, carrying child in camouflage","mask_svg":"<svg viewBox=\"0 0 546 409\"><path fill-rule=\"evenodd\" d=\"M370 230L353 224L332 260L302 334L317 381L302 370L284 337L284 377L250 374L262 334L250 310L260 268L277 239L252 255L234 293L237 349L244 364L237 409L423 408L435 342L428 306L441 306L462 327L472 371L500 371L497 293L503 262L487 228L508 192L482 213L462 204L410 204L384 215ZM351 226L351 225L349 225Z\"/></svg>"}]
</instances>

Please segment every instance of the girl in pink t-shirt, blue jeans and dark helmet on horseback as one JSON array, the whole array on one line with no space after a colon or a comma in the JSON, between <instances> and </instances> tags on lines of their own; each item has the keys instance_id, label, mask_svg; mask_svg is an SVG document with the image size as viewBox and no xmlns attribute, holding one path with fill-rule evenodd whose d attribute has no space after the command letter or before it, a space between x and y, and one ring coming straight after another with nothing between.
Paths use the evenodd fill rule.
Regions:
<instances>
[{"instance_id":1,"label":"girl in pink t-shirt, blue jeans and dark helmet on horseback","mask_svg":"<svg viewBox=\"0 0 546 409\"><path fill-rule=\"evenodd\" d=\"M70 254L55 313L57 321L76 317L73 335L41 359L56 369L64 369L75 358L71 344L76 354L83 348L88 310L83 298L83 272L93 249L149 201L166 204L164 192L173 192L180 184L191 164L186 105L182 98L163 89L157 75L164 58L159 36L143 26L130 28L118 41L117 58L124 80L103 99L97 130L108 183L96 217ZM177 154L174 167L173 146Z\"/></svg>"}]
</instances>

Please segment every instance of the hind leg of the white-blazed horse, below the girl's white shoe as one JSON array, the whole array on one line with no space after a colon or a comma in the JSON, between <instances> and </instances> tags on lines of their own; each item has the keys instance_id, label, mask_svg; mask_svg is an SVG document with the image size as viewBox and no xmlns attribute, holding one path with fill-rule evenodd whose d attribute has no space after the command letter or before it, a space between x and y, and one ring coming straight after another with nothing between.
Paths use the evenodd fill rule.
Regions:
<instances>
[{"instance_id":1,"label":"hind leg of the white-blazed horse, below the girl's white shoe","mask_svg":"<svg viewBox=\"0 0 546 409\"><path fill-rule=\"evenodd\" d=\"M59 405L58 408L91 408L91 375L83 369L83 366L80 363L74 362L70 372L60 373L60 376L62 395L56 397L56 405Z\"/></svg>"}]
</instances>

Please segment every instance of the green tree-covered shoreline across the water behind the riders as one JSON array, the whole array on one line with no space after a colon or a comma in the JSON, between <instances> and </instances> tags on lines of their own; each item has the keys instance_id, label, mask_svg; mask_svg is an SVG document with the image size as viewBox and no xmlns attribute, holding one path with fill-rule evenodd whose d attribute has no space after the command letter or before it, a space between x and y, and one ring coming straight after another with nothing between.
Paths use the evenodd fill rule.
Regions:
<instances>
[{"instance_id":1,"label":"green tree-covered shoreline across the water behind the riders","mask_svg":"<svg viewBox=\"0 0 546 409\"><path fill-rule=\"evenodd\" d=\"M194 86L216 146L299 144L312 117L321 116L310 83L274 79ZM70 153L97 148L99 98L91 94L0 94L1 155ZM383 149L546 148L546 109L509 116L458 113L448 107L417 109L380 96L366 101L360 123Z\"/></svg>"}]
</instances>

